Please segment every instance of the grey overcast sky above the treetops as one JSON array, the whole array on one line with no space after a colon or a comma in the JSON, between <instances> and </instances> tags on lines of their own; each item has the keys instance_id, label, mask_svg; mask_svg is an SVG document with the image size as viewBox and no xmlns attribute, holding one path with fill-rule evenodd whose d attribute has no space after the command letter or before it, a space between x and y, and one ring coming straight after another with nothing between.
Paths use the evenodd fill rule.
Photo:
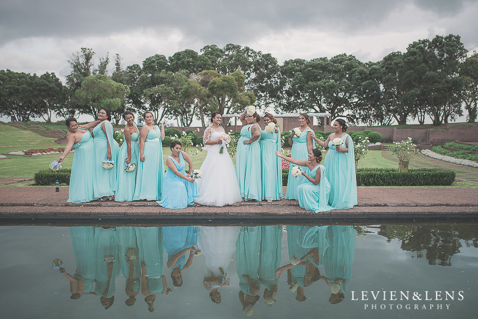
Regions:
<instances>
[{"instance_id":1,"label":"grey overcast sky above the treetops","mask_svg":"<svg viewBox=\"0 0 478 319\"><path fill-rule=\"evenodd\" d=\"M416 40L458 34L478 49L478 0L1 0L0 69L70 73L93 49L123 65L209 44L289 59L346 53L378 61ZM110 62L109 70L113 70Z\"/></svg>"}]
</instances>

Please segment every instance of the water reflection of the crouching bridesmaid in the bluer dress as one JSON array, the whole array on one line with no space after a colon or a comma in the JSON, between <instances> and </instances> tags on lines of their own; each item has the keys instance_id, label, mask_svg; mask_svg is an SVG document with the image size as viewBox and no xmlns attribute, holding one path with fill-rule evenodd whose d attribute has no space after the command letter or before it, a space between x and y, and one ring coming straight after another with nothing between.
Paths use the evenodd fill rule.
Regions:
<instances>
[{"instance_id":1,"label":"water reflection of the crouching bridesmaid in the bluer dress","mask_svg":"<svg viewBox=\"0 0 478 319\"><path fill-rule=\"evenodd\" d=\"M182 285L182 270L188 269L193 264L194 246L198 243L199 229L194 226L168 226L162 227L164 249L168 254L166 265L171 271L173 285ZM186 261L186 253L189 252Z\"/></svg>"}]
</instances>

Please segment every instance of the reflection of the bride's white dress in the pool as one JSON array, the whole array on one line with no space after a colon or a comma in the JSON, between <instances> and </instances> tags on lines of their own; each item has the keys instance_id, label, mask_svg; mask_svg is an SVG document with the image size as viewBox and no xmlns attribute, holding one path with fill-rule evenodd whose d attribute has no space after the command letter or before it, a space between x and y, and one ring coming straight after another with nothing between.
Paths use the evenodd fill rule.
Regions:
<instances>
[{"instance_id":1,"label":"reflection of the bride's white dress in the pool","mask_svg":"<svg viewBox=\"0 0 478 319\"><path fill-rule=\"evenodd\" d=\"M236 253L239 226L197 226L200 229L198 247L206 262L206 276L221 276L219 267L226 269ZM216 288L216 287L213 287Z\"/></svg>"}]
</instances>

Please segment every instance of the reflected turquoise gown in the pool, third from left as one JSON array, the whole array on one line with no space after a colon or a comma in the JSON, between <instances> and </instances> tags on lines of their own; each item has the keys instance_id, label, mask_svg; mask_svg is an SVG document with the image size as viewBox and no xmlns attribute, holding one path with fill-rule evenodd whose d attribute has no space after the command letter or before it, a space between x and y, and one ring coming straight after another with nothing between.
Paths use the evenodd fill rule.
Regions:
<instances>
[{"instance_id":1,"label":"reflected turquoise gown in the pool, third from left","mask_svg":"<svg viewBox=\"0 0 478 319\"><path fill-rule=\"evenodd\" d=\"M139 248L136 239L135 227L116 227L118 233L118 246L119 246L119 263L121 265L121 273L126 279L131 280L131 289L133 291L139 291L141 282L141 260L139 259ZM128 257L128 252L130 257ZM129 277L129 271L131 265L128 263L128 259L131 259L133 263L133 276Z\"/></svg>"}]
</instances>

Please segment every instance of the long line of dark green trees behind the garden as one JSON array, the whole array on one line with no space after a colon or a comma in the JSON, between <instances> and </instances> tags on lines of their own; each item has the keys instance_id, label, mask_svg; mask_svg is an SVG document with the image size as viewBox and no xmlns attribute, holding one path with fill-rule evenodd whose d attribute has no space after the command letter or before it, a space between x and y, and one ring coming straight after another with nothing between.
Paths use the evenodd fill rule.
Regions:
<instances>
[{"instance_id":1,"label":"long line of dark green trees behind the garden","mask_svg":"<svg viewBox=\"0 0 478 319\"><path fill-rule=\"evenodd\" d=\"M478 54L467 57L460 37L437 36L411 43L378 62L352 55L331 59L287 60L279 65L270 54L249 47L207 45L200 53L184 50L166 58L155 55L142 66L124 67L109 57L81 48L68 60L71 73L63 85L54 73L40 77L0 70L0 114L20 120L52 114L67 118L95 116L102 107L118 123L124 110L152 111L156 118L193 119L207 125L212 111L238 112L255 104L278 113L328 112L351 123L389 125L410 120L434 125L463 115L477 120Z\"/></svg>"}]
</instances>

